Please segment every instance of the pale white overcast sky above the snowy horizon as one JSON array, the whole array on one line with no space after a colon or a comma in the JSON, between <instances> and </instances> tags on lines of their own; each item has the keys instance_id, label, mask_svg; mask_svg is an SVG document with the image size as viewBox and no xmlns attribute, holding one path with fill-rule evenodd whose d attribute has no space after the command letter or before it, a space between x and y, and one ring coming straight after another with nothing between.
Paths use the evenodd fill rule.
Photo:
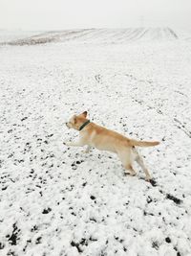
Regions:
<instances>
[{"instance_id":1,"label":"pale white overcast sky above the snowy horizon","mask_svg":"<svg viewBox=\"0 0 191 256\"><path fill-rule=\"evenodd\" d=\"M0 29L191 26L191 0L0 0Z\"/></svg>"}]
</instances>

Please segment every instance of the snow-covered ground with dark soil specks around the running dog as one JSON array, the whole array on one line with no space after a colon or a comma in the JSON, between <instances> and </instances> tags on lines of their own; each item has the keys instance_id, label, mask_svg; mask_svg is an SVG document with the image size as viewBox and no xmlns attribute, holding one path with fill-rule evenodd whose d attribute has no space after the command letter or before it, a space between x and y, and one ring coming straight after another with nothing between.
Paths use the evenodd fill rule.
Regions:
<instances>
[{"instance_id":1,"label":"snow-covered ground with dark soil specks around the running dog","mask_svg":"<svg viewBox=\"0 0 191 256\"><path fill-rule=\"evenodd\" d=\"M107 35L0 46L1 256L191 255L191 44ZM156 183L63 145L84 110L161 142L139 150Z\"/></svg>"}]
</instances>

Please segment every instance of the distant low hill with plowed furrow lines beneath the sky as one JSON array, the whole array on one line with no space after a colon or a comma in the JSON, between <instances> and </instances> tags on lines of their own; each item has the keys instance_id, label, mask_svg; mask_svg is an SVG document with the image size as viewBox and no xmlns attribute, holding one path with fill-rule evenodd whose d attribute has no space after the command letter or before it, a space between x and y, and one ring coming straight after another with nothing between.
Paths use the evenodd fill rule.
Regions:
<instances>
[{"instance_id":1,"label":"distant low hill with plowed furrow lines beneath the sky","mask_svg":"<svg viewBox=\"0 0 191 256\"><path fill-rule=\"evenodd\" d=\"M185 36L186 35L186 36ZM11 45L33 45L49 42L82 42L82 43L130 43L145 41L176 40L178 38L190 38L191 34L176 33L170 28L129 28L129 29L87 29L68 30L44 33L18 33L7 34L3 39L0 33L0 41Z\"/></svg>"}]
</instances>

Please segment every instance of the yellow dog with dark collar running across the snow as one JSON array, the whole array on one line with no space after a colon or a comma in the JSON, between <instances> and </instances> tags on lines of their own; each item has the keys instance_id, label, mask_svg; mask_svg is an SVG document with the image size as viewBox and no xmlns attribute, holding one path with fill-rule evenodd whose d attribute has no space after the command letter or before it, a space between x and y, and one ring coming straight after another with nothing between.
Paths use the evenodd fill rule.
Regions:
<instances>
[{"instance_id":1,"label":"yellow dog with dark collar running across the snow","mask_svg":"<svg viewBox=\"0 0 191 256\"><path fill-rule=\"evenodd\" d=\"M68 123L67 128L74 128L79 131L79 140L76 142L66 142L66 146L83 147L87 146L85 152L89 152L91 148L99 151L112 151L117 153L122 165L125 168L125 175L136 175L133 168L133 162L137 161L138 165L143 169L146 180L151 180L151 175L144 165L142 157L139 155L136 147L153 147L159 145L159 141L137 141L129 139L120 133L103 128L87 119L87 111L79 115L74 115Z\"/></svg>"}]
</instances>

